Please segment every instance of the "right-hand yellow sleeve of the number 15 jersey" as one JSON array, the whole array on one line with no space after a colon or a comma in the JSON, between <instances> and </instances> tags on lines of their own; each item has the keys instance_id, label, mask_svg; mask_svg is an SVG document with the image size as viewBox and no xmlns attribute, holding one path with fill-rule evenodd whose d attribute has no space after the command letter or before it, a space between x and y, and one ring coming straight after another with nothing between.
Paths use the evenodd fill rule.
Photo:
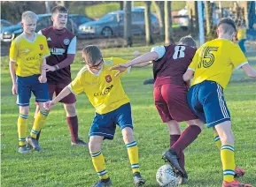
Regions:
<instances>
[{"instance_id":1,"label":"right-hand yellow sleeve of the number 15 jersey","mask_svg":"<svg viewBox=\"0 0 256 187\"><path fill-rule=\"evenodd\" d=\"M233 49L230 50L229 56L236 70L241 68L244 64L248 64L248 61L244 56L243 51L240 49L240 47L237 44L235 44Z\"/></svg>"}]
</instances>

